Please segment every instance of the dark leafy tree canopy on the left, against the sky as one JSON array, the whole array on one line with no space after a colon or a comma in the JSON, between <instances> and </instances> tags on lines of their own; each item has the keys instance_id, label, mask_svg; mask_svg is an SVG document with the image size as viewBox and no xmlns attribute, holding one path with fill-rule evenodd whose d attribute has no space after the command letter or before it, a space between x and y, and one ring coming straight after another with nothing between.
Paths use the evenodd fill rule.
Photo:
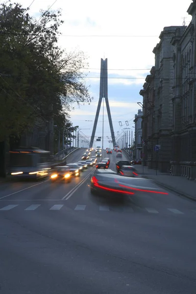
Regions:
<instances>
[{"instance_id":1,"label":"dark leafy tree canopy on the left, against the sky","mask_svg":"<svg viewBox=\"0 0 196 294\"><path fill-rule=\"evenodd\" d=\"M36 20L19 3L0 4L0 141L20 135L37 118L70 122L72 102L91 102L81 51L57 45L61 11Z\"/></svg>"}]
</instances>

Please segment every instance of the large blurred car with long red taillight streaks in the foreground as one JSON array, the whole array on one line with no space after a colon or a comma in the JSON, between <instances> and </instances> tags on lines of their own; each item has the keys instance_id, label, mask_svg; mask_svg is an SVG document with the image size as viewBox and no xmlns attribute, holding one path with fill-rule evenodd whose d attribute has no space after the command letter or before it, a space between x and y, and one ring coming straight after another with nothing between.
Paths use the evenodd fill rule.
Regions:
<instances>
[{"instance_id":1,"label":"large blurred car with long red taillight streaks in the foreground","mask_svg":"<svg viewBox=\"0 0 196 294\"><path fill-rule=\"evenodd\" d=\"M99 194L100 196L105 194L123 198L123 195L144 195L148 193L168 195L168 193L157 188L151 180L121 176L109 169L96 169L88 186L92 194Z\"/></svg>"}]
</instances>

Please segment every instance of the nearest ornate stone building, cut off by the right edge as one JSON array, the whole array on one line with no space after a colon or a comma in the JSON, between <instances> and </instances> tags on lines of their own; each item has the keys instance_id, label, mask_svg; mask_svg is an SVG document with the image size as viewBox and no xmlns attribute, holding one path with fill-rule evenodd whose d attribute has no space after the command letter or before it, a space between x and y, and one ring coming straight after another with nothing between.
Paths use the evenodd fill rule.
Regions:
<instances>
[{"instance_id":1,"label":"nearest ornate stone building, cut off by the right edge","mask_svg":"<svg viewBox=\"0 0 196 294\"><path fill-rule=\"evenodd\" d=\"M196 0L192 21L175 30L173 46L172 174L196 179Z\"/></svg>"}]
</instances>

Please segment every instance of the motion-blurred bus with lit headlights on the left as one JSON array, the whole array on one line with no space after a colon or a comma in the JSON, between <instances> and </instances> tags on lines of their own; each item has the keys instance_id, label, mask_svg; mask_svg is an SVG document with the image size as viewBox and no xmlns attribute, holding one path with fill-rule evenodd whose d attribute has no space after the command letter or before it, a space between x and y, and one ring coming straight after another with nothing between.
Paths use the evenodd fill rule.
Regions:
<instances>
[{"instance_id":1,"label":"motion-blurred bus with lit headlights on the left","mask_svg":"<svg viewBox=\"0 0 196 294\"><path fill-rule=\"evenodd\" d=\"M37 147L20 147L9 151L9 172L13 177L43 178L48 176L50 152Z\"/></svg>"}]
</instances>

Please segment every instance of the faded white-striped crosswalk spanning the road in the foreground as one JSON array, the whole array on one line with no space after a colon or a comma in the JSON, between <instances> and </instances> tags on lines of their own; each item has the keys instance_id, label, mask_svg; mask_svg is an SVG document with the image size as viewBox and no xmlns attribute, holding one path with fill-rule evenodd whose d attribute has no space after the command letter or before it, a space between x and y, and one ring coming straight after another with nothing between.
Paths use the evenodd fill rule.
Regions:
<instances>
[{"instance_id":1,"label":"faded white-striped crosswalk spanning the road in the foreground","mask_svg":"<svg viewBox=\"0 0 196 294\"><path fill-rule=\"evenodd\" d=\"M186 209L184 211L178 210L176 208L160 208L155 209L153 207L131 207L131 206L108 206L108 205L85 205L85 204L77 204L73 207L67 207L65 204L54 204L51 206L46 206L45 204L31 204L27 207L24 206L24 204L9 204L5 206L0 206L0 211L14 211L14 210L24 210L24 211L42 211L44 210L53 210L53 211L59 211L63 210L64 208L69 208L74 211L100 211L100 212L128 212L128 213L148 213L148 214L166 214L169 213L171 215L185 215L187 213L192 213L196 215L196 210L194 209Z\"/></svg>"}]
</instances>

